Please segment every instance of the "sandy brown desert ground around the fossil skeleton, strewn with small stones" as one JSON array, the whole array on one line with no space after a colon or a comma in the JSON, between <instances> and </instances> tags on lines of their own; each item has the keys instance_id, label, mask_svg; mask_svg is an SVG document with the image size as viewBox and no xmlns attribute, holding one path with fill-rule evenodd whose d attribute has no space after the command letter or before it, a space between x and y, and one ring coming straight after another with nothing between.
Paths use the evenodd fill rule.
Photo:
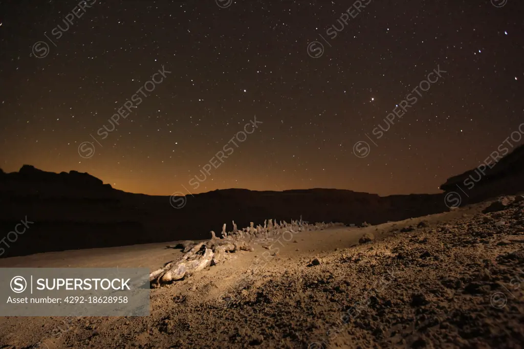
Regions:
<instances>
[{"instance_id":1,"label":"sandy brown desert ground around the fossil skeleton, strewn with small stones","mask_svg":"<svg viewBox=\"0 0 524 349\"><path fill-rule=\"evenodd\" d=\"M149 317L3 317L0 348L523 347L524 202L483 214L488 204L257 245L152 289ZM359 244L365 234L373 241ZM154 270L181 255L169 244L0 267Z\"/></svg>"}]
</instances>

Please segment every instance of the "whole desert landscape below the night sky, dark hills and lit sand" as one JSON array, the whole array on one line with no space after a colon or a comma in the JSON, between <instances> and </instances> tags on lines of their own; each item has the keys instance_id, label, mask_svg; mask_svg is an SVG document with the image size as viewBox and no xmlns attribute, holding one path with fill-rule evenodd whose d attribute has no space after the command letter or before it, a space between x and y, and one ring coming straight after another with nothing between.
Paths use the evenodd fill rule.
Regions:
<instances>
[{"instance_id":1,"label":"whole desert landscape below the night sky, dark hills and lit sand","mask_svg":"<svg viewBox=\"0 0 524 349\"><path fill-rule=\"evenodd\" d=\"M516 155L521 156L521 152ZM138 206L135 197L143 202L157 200L159 205L167 205L169 198L119 192L88 174L43 173L25 166L20 172L3 176L3 198L20 205L11 206L8 213L3 212L4 222L20 215L15 208L28 212L35 201L42 200L46 201L48 212L52 212L53 207L58 207L56 212L60 212L66 205L73 211L71 202L75 200L83 208L75 212L83 212L83 216L69 225L57 216L53 231L37 230L39 221L35 218L28 229L28 233L33 234L31 239L48 243L34 247L40 249L40 253L29 253L21 251L26 245L17 241L6 249L0 267L149 268L150 315L3 317L0 318L0 343L2 348L9 349L521 347L524 343L521 287L524 196L519 186L524 177L522 167L514 166L514 163L521 165L521 159L500 161L498 165L504 168L504 175L486 177L477 191L487 197L470 195L475 197L473 202L456 207L445 205L446 193L383 198L336 190L301 191L302 197L323 194L325 197L318 200L325 202L335 201L338 196L336 200L346 205L362 206L362 201L345 201L340 196L375 198L365 206L368 211L374 211L373 214L362 217L374 224L349 223L357 220L360 213L349 216L345 222L342 219L342 222L329 223L312 223L310 214L291 218L289 223L276 219L253 220L255 222L238 224L238 227L234 221L222 227L216 221L212 226L217 228L208 231L206 237L202 232L189 230L183 236L183 228L179 228L180 233L173 234L178 239L168 240L167 236L160 235L155 239L161 243L140 244L143 231L126 229L125 237L117 230L113 238L121 238L127 246L112 247L115 243L106 239L107 246L93 248L84 245L83 239L70 237L68 244L77 249L68 250L64 250L66 244L54 244L57 236L67 236L68 226L86 224L88 230L95 224L111 227L124 220L123 216L86 210L93 210L92 202L112 202L116 208ZM463 181L470 172L457 178ZM46 176L58 187L45 191L43 188L49 188ZM69 190L85 190L85 184L57 181L57 176L89 179L97 190L90 189L89 195ZM457 179L447 183L451 181ZM449 184L443 185L446 186ZM13 200L21 190L8 188L32 188L34 192L23 192L25 201ZM518 189L510 194L508 188ZM236 192L238 202L246 197L252 198L247 202L262 202L263 199L253 199L257 195L258 198L286 195ZM70 198L66 198L65 193L69 193ZM216 198L234 200L231 193L203 194L194 198L194 202L201 200L200 207L215 205ZM437 199L443 207L438 208ZM26 205L24 209L20 209L22 202ZM391 206L392 202L395 207ZM428 210L428 206L419 208L416 214L407 217L410 214L404 208L414 210L417 207L414 202L433 203L429 206L433 208L428 214L421 211ZM302 206L293 210L308 212L310 204L314 202L302 199ZM278 205L266 209L275 215L277 211L271 210L282 210ZM150 204L148 210L143 212L161 212ZM321 212L316 214L322 218ZM399 219L388 221L395 217ZM177 219L179 227L190 226L194 221L191 216L183 222L180 217ZM146 216L143 222L147 220ZM242 215L238 220L246 221L247 216ZM171 221L166 219L160 223L169 226ZM134 225L140 224L129 223ZM149 231L146 235L152 233ZM22 238L26 235L20 236L20 240Z\"/></svg>"}]
</instances>

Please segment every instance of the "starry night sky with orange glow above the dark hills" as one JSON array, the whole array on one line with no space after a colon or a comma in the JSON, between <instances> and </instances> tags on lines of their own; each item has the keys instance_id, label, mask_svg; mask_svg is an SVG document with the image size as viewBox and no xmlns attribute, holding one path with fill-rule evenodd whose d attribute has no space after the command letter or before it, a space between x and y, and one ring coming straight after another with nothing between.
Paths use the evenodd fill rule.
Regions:
<instances>
[{"instance_id":1,"label":"starry night sky with orange glow above the dark hills","mask_svg":"<svg viewBox=\"0 0 524 349\"><path fill-rule=\"evenodd\" d=\"M1 0L0 9L6 172L77 170L154 195L435 193L524 121L520 0ZM446 73L377 139L439 66ZM112 125L118 109L126 117ZM228 156L217 161L220 151Z\"/></svg>"}]
</instances>

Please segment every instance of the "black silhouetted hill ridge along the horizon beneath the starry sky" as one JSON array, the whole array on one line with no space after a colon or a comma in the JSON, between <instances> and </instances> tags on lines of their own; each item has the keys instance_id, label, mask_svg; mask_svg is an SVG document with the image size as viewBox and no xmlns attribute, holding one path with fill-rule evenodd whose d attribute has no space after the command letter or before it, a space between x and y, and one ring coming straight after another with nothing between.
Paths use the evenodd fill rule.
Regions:
<instances>
[{"instance_id":1,"label":"black silhouetted hill ridge along the horizon beneath the starry sky","mask_svg":"<svg viewBox=\"0 0 524 349\"><path fill-rule=\"evenodd\" d=\"M24 165L18 172L0 170L0 238L20 220L35 222L5 248L0 257L67 249L125 246L181 239L204 239L210 231L266 219L341 222L360 225L400 221L449 210L447 193L461 193L461 205L500 194L524 191L524 147L487 169L473 188L464 187L479 170L466 171L442 184L443 194L380 197L340 189L253 191L214 190L170 198L127 193L89 173L46 172ZM469 182L467 182L469 183ZM176 204L174 204L176 203ZM177 209L179 207L179 209ZM27 217L27 218L26 218ZM13 237L12 237L13 239Z\"/></svg>"}]
</instances>

